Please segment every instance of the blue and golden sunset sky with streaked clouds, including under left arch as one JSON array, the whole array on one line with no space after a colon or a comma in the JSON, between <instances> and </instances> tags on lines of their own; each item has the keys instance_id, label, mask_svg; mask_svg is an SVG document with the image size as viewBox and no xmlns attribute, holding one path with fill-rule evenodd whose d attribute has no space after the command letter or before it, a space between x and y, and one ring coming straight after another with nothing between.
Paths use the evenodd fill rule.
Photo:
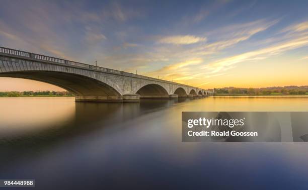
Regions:
<instances>
[{"instance_id":1,"label":"blue and golden sunset sky with streaked clouds, including under left arch","mask_svg":"<svg viewBox=\"0 0 308 190\"><path fill-rule=\"evenodd\" d=\"M74 2L74 3L72 3ZM1 1L0 46L201 88L308 85L308 1ZM0 91L59 90L0 78Z\"/></svg>"}]
</instances>

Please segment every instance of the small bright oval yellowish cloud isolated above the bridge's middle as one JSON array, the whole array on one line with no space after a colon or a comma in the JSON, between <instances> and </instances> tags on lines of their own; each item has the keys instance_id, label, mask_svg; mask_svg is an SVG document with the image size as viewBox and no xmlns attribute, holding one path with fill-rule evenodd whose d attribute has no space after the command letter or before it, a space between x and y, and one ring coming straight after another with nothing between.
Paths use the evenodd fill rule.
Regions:
<instances>
[{"instance_id":1,"label":"small bright oval yellowish cloud isolated above the bridge's middle","mask_svg":"<svg viewBox=\"0 0 308 190\"><path fill-rule=\"evenodd\" d=\"M192 35L185 35L185 36L167 36L160 39L158 42L161 44L194 44L198 42L206 41L205 37L197 37Z\"/></svg>"}]
</instances>

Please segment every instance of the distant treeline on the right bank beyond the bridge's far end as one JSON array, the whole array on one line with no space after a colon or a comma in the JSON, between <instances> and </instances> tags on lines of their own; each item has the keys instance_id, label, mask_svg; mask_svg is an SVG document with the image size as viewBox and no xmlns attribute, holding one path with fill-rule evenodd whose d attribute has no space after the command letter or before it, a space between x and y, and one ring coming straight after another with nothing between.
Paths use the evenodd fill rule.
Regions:
<instances>
[{"instance_id":1,"label":"distant treeline on the right bank beyond the bridge's far end","mask_svg":"<svg viewBox=\"0 0 308 190\"><path fill-rule=\"evenodd\" d=\"M214 88L216 96L308 95L308 86L274 86L265 88Z\"/></svg>"}]
</instances>

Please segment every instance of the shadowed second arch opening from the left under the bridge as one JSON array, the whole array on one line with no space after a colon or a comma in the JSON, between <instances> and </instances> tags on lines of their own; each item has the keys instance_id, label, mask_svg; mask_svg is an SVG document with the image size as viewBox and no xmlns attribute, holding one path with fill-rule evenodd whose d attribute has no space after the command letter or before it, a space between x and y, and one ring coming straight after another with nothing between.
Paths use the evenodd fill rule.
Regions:
<instances>
[{"instance_id":1,"label":"shadowed second arch opening from the left under the bridge","mask_svg":"<svg viewBox=\"0 0 308 190\"><path fill-rule=\"evenodd\" d=\"M163 86L153 83L140 87L136 94L140 95L140 99L169 98L168 91Z\"/></svg>"}]
</instances>

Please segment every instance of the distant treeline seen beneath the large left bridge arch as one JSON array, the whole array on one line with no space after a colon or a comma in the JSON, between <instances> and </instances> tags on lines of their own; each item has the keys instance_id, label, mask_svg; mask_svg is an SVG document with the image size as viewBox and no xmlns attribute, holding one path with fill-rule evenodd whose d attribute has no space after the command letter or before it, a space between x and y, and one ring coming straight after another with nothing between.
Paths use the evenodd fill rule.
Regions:
<instances>
[{"instance_id":1,"label":"distant treeline seen beneath the large left bridge arch","mask_svg":"<svg viewBox=\"0 0 308 190\"><path fill-rule=\"evenodd\" d=\"M2 91L0 97L73 97L69 91Z\"/></svg>"}]
</instances>

